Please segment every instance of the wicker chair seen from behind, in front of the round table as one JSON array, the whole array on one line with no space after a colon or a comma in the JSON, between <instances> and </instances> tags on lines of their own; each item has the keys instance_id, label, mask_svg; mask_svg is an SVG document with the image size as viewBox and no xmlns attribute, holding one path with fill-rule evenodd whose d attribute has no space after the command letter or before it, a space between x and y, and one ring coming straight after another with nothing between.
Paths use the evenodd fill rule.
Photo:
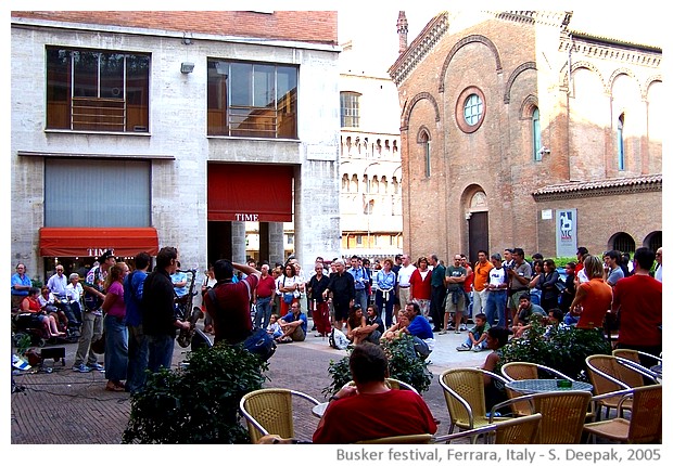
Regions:
<instances>
[{"instance_id":1,"label":"wicker chair seen from behind, in front of the round table","mask_svg":"<svg viewBox=\"0 0 673 466\"><path fill-rule=\"evenodd\" d=\"M549 391L524 394L494 405L488 415L494 420L496 411L504 406L529 401L532 409L542 414L534 443L573 444L582 440L582 428L592 400L589 391Z\"/></svg>"}]
</instances>

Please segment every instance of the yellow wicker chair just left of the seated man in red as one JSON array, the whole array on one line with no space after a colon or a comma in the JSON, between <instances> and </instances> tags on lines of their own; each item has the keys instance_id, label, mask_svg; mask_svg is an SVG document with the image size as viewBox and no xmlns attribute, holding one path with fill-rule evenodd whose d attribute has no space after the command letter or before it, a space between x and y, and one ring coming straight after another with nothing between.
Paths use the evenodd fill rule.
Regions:
<instances>
[{"instance_id":1,"label":"yellow wicker chair just left of the seated man in red","mask_svg":"<svg viewBox=\"0 0 673 466\"><path fill-rule=\"evenodd\" d=\"M270 433L284 439L294 438L293 397L307 400L314 405L320 404L309 394L287 388L265 388L241 398L239 410L247 422L252 443L257 443L262 437Z\"/></svg>"}]
</instances>

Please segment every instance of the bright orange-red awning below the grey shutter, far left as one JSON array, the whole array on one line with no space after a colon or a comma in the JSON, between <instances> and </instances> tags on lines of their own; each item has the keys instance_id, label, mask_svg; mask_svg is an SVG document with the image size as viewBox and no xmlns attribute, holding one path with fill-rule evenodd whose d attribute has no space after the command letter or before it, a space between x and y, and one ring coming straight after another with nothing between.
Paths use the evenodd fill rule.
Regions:
<instances>
[{"instance_id":1,"label":"bright orange-red awning below the grey shutter, far left","mask_svg":"<svg viewBox=\"0 0 673 466\"><path fill-rule=\"evenodd\" d=\"M115 256L158 253L154 228L41 228L40 256L97 257L106 250Z\"/></svg>"}]
</instances>

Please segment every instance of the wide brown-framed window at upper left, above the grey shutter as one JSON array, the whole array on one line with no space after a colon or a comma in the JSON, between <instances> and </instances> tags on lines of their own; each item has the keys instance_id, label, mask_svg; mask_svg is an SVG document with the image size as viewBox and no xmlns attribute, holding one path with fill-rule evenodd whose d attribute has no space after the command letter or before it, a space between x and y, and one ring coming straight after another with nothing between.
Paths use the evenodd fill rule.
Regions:
<instances>
[{"instance_id":1,"label":"wide brown-framed window at upper left, above the grey shutter","mask_svg":"<svg viewBox=\"0 0 673 466\"><path fill-rule=\"evenodd\" d=\"M150 55L47 48L47 128L149 131Z\"/></svg>"}]
</instances>

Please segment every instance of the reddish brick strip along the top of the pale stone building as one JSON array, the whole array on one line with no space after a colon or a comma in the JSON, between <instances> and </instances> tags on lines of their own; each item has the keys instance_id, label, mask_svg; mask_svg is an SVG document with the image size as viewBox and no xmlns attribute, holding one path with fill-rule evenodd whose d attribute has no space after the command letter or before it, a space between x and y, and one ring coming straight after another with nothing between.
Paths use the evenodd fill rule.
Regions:
<instances>
[{"instance_id":1,"label":"reddish brick strip along the top of the pale stone building","mask_svg":"<svg viewBox=\"0 0 673 466\"><path fill-rule=\"evenodd\" d=\"M335 11L13 11L13 17L336 44Z\"/></svg>"}]
</instances>

